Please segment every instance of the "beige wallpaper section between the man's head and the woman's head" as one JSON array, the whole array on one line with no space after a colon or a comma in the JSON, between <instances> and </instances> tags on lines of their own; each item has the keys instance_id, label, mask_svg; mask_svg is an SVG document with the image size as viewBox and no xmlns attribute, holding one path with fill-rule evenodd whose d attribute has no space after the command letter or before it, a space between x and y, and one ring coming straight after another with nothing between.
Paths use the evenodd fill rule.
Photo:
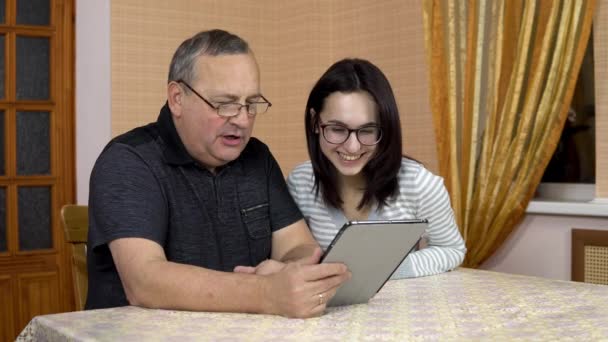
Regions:
<instances>
[{"instance_id":1,"label":"beige wallpaper section between the man's head and the woman's head","mask_svg":"<svg viewBox=\"0 0 608 342\"><path fill-rule=\"evenodd\" d=\"M304 107L314 82L332 62L331 2L277 1L277 56L264 79L271 110L258 117L254 134L266 142L287 175L308 160Z\"/></svg>"}]
</instances>

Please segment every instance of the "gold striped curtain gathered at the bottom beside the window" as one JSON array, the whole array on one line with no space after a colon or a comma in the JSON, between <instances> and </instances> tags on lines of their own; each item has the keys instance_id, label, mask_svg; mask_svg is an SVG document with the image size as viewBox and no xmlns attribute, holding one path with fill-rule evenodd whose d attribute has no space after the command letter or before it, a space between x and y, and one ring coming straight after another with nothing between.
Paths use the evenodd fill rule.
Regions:
<instances>
[{"instance_id":1,"label":"gold striped curtain gathered at the bottom beside the window","mask_svg":"<svg viewBox=\"0 0 608 342\"><path fill-rule=\"evenodd\" d=\"M423 0L439 172L478 267L522 220L559 141L594 0Z\"/></svg>"}]
</instances>

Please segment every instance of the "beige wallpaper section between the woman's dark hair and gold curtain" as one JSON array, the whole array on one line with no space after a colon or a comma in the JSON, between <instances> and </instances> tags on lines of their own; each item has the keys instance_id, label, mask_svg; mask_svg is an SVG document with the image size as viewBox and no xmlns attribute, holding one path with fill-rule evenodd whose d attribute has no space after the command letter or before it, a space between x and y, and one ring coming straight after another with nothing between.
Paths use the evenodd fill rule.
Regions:
<instances>
[{"instance_id":1,"label":"beige wallpaper section between the woman's dark hair and gold curtain","mask_svg":"<svg viewBox=\"0 0 608 342\"><path fill-rule=\"evenodd\" d=\"M362 57L386 74L401 113L404 152L437 171L421 1L334 1L334 59Z\"/></svg>"}]
</instances>

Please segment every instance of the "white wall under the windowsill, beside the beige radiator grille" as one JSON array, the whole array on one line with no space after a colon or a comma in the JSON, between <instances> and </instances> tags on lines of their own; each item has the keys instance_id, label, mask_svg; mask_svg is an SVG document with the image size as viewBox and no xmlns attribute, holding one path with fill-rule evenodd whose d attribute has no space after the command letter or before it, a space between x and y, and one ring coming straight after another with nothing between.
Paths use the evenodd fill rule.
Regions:
<instances>
[{"instance_id":1,"label":"white wall under the windowsill, beside the beige radiator grille","mask_svg":"<svg viewBox=\"0 0 608 342\"><path fill-rule=\"evenodd\" d=\"M481 268L570 280L572 228L608 230L608 219L526 215L517 230Z\"/></svg>"}]
</instances>

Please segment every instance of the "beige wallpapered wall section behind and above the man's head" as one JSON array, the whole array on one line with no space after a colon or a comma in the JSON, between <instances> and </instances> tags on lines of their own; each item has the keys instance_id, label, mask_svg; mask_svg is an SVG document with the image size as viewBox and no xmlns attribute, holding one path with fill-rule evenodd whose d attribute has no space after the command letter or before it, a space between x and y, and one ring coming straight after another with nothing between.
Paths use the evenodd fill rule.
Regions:
<instances>
[{"instance_id":1,"label":"beige wallpapered wall section behind and above the man's head","mask_svg":"<svg viewBox=\"0 0 608 342\"><path fill-rule=\"evenodd\" d=\"M275 17L274 6L266 9L246 0L122 0L111 6L114 136L156 120L166 100L173 52L198 31L234 31L254 47L262 70L273 64L268 19Z\"/></svg>"}]
</instances>

